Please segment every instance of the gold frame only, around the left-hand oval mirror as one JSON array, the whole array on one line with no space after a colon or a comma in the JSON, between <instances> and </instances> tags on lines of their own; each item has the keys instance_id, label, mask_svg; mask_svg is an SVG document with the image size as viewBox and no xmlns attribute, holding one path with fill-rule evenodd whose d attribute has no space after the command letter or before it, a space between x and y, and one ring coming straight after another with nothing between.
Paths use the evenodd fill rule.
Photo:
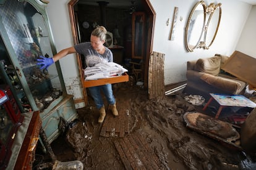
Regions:
<instances>
[{"instance_id":1,"label":"gold frame only, around the left-hand oval mirror","mask_svg":"<svg viewBox=\"0 0 256 170\"><path fill-rule=\"evenodd\" d=\"M192 21L192 17L195 13L195 10L202 6L203 7L203 24L202 24L202 32L200 33L200 37L198 37L198 42L196 44L193 44L193 46L191 46L189 44L189 36L191 35L189 33L189 30L190 30L190 26L191 26L191 21ZM205 5L205 2L203 1L198 1L197 4L195 4L195 6L193 7L193 9L191 10L190 14L189 14L189 18L187 20L187 25L186 25L186 31L185 31L185 44L186 44L186 49L187 51L189 52L192 52L197 46L198 44L200 44L200 39L203 35L203 29L205 27L205 20L206 20L206 5Z\"/></svg>"}]
</instances>

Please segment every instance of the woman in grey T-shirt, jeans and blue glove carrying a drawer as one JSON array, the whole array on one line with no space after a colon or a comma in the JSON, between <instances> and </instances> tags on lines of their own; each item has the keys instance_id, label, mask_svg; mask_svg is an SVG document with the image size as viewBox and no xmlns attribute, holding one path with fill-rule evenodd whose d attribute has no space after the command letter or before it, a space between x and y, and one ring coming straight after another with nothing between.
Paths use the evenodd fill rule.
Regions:
<instances>
[{"instance_id":1,"label":"woman in grey T-shirt, jeans and blue glove carrying a drawer","mask_svg":"<svg viewBox=\"0 0 256 170\"><path fill-rule=\"evenodd\" d=\"M69 47L63 49L58 54L54 55L53 58L46 58L40 56L41 59L38 59L38 65L41 65L40 69L48 68L49 65L58 61L62 57L65 57L67 54L79 53L85 56L85 63L87 67L92 67L96 63L101 61L113 62L112 52L105 47L103 44L106 39L106 28L104 26L98 26L95 30L92 31L90 42L82 42L75 45L74 47ZM102 123L106 116L105 106L103 99L101 97L101 90L105 94L106 99L108 100L109 107L114 116L118 116L118 111L116 109L116 100L114 99L112 86L111 84L105 84L103 86L88 87L90 94L93 97L96 108L100 111L100 118L98 123Z\"/></svg>"}]
</instances>

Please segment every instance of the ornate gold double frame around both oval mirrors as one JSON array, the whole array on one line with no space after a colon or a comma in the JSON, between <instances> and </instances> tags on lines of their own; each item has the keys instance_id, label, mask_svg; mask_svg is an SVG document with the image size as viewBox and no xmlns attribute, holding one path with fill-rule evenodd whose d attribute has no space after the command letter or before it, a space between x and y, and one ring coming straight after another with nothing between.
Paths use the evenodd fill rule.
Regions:
<instances>
[{"instance_id":1,"label":"ornate gold double frame around both oval mirrors","mask_svg":"<svg viewBox=\"0 0 256 170\"><path fill-rule=\"evenodd\" d=\"M202 38L202 34L200 34L199 41L197 42L197 44L189 44L189 30L190 30L190 23L192 20L192 17L194 15L195 9L197 9L198 6L202 5L203 6L203 10L204 10L204 18L203 18L203 28L202 28L202 34L204 32L204 36L203 36L203 41L200 41L200 39ZM218 9L218 10L216 10ZM214 24L213 22L215 22L215 20L213 20L213 16L215 16L216 11L219 12L218 14L218 22L216 23L215 29L213 29L213 36L211 38L211 40L209 41L210 43L207 44L207 38L209 37L209 26L211 26L211 24ZM218 28L220 26L220 21L221 21L221 13L222 13L222 9L221 9L221 3L218 4L214 4L211 3L209 6L206 6L204 1L199 1L197 2L197 4L195 4L195 6L193 7L193 9L190 12L189 15L189 19L187 20L187 25L186 25L186 34L185 34L185 44L186 44L186 49L189 52L192 52L195 48L202 48L202 49L209 49L209 47L211 46L211 44L213 44L213 41L216 38L216 34L218 33ZM208 21L207 21L207 25L205 25L205 20L207 19L207 14L209 14L210 16L208 17ZM208 35L207 35L208 33Z\"/></svg>"}]
</instances>

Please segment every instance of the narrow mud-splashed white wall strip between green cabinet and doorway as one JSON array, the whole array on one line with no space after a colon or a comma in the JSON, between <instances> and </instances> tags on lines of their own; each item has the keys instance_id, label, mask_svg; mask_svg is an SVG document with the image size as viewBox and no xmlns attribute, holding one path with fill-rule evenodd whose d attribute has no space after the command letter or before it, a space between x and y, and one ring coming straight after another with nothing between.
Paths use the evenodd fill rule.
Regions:
<instances>
[{"instance_id":1,"label":"narrow mud-splashed white wall strip between green cabinet and doorway","mask_svg":"<svg viewBox=\"0 0 256 170\"><path fill-rule=\"evenodd\" d=\"M57 52L67 47L74 46L69 10L67 7L68 3L69 0L51 1L46 7ZM59 62L61 64L67 93L74 95L74 100L83 99L82 85L80 83L75 54L69 54L67 57L59 60ZM84 107L84 103L75 102L75 107Z\"/></svg>"}]
</instances>

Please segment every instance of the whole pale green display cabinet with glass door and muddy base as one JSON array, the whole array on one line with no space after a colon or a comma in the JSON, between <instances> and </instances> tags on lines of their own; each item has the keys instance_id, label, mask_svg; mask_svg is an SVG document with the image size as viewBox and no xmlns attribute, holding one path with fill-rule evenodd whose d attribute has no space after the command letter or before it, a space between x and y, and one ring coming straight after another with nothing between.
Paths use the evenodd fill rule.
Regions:
<instances>
[{"instance_id":1,"label":"whole pale green display cabinet with glass door and muddy base","mask_svg":"<svg viewBox=\"0 0 256 170\"><path fill-rule=\"evenodd\" d=\"M43 130L51 143L59 135L59 118L77 118L59 62L40 70L36 59L56 54L43 0L0 0L0 84L11 87L19 110L40 111Z\"/></svg>"}]
</instances>

